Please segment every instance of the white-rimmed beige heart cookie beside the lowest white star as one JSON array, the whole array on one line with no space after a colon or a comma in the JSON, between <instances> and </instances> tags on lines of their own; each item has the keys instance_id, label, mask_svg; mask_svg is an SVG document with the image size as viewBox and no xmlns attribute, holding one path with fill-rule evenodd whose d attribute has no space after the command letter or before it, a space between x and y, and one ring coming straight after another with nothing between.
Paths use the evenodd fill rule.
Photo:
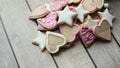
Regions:
<instances>
[{"instance_id":1,"label":"white-rimmed beige heart cookie beside the lowest white star","mask_svg":"<svg viewBox=\"0 0 120 68\"><path fill-rule=\"evenodd\" d=\"M46 48L50 53L57 53L66 44L66 38L62 34L47 31L46 36Z\"/></svg>"}]
</instances>

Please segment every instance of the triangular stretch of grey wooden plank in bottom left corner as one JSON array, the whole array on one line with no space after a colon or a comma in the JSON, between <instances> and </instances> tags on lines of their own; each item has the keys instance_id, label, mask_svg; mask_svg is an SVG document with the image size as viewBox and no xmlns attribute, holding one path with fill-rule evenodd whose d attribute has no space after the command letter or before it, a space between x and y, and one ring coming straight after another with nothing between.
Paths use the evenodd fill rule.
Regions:
<instances>
[{"instance_id":1,"label":"triangular stretch of grey wooden plank in bottom left corner","mask_svg":"<svg viewBox=\"0 0 120 68\"><path fill-rule=\"evenodd\" d=\"M18 68L0 19L0 68Z\"/></svg>"}]
</instances>

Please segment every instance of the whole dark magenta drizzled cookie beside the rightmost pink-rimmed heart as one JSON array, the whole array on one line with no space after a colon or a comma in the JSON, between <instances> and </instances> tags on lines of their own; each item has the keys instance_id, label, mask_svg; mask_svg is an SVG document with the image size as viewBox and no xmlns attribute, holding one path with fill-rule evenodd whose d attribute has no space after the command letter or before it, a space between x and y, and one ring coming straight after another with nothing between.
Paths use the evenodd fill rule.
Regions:
<instances>
[{"instance_id":1,"label":"whole dark magenta drizzled cookie beside the rightmost pink-rimmed heart","mask_svg":"<svg viewBox=\"0 0 120 68\"><path fill-rule=\"evenodd\" d=\"M92 28L82 24L80 25L80 37L86 47L90 47L96 37L92 32Z\"/></svg>"}]
</instances>

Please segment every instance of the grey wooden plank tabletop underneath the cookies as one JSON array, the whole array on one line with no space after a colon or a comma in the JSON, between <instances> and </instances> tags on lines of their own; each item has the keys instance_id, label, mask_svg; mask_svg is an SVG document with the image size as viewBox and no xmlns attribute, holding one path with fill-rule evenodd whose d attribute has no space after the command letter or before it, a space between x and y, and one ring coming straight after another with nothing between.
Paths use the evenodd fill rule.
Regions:
<instances>
[{"instance_id":1,"label":"grey wooden plank tabletop underneath the cookies","mask_svg":"<svg viewBox=\"0 0 120 68\"><path fill-rule=\"evenodd\" d=\"M0 68L120 68L120 0L110 0L116 16L112 41L95 41L85 48L80 40L52 55L31 41L36 23L28 19L31 8L45 0L0 0Z\"/></svg>"}]
</instances>

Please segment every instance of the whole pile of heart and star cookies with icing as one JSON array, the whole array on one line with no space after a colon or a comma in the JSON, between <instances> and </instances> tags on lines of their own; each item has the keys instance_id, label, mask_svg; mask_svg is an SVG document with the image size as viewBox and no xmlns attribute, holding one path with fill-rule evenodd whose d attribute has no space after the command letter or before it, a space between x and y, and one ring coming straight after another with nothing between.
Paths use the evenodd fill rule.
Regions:
<instances>
[{"instance_id":1,"label":"whole pile of heart and star cookies with icing","mask_svg":"<svg viewBox=\"0 0 120 68\"><path fill-rule=\"evenodd\" d=\"M111 41L114 16L104 0L48 0L32 10L29 19L37 21L38 36L33 44L41 51L57 53L66 44L74 44L79 35L86 47L96 39ZM101 12L101 10L104 10Z\"/></svg>"}]
</instances>

